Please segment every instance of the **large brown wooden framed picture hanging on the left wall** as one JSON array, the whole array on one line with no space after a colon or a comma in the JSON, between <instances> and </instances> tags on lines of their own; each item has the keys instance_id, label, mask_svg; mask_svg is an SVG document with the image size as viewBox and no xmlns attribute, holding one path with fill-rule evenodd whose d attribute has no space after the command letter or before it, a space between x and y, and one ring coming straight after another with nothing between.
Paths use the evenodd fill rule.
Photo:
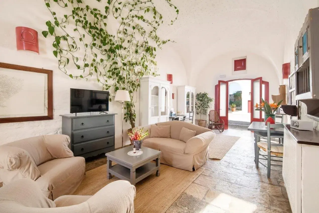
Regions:
<instances>
[{"instance_id":1,"label":"large brown wooden framed picture hanging on the left wall","mask_svg":"<svg viewBox=\"0 0 319 213\"><path fill-rule=\"evenodd\" d=\"M52 119L52 70L0 62L0 123Z\"/></svg>"}]
</instances>

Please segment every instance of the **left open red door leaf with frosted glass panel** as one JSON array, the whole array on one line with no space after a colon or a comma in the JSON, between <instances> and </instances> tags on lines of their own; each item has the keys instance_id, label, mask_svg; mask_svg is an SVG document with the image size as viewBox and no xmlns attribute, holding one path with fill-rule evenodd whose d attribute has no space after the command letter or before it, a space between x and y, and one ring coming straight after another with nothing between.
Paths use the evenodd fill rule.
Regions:
<instances>
[{"instance_id":1,"label":"left open red door leaf with frosted glass panel","mask_svg":"<svg viewBox=\"0 0 319 213\"><path fill-rule=\"evenodd\" d=\"M228 82L218 81L218 114L220 119L225 122L225 130L228 129Z\"/></svg>"}]
</instances>

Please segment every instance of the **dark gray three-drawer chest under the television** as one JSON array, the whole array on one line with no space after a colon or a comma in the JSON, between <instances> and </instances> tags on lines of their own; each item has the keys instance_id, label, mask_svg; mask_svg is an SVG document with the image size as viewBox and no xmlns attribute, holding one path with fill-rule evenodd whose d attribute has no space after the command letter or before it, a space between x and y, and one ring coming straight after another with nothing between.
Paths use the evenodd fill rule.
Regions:
<instances>
[{"instance_id":1,"label":"dark gray three-drawer chest under the television","mask_svg":"<svg viewBox=\"0 0 319 213\"><path fill-rule=\"evenodd\" d=\"M74 156L91 157L115 150L115 114L62 116L62 134L71 138Z\"/></svg>"}]
</instances>

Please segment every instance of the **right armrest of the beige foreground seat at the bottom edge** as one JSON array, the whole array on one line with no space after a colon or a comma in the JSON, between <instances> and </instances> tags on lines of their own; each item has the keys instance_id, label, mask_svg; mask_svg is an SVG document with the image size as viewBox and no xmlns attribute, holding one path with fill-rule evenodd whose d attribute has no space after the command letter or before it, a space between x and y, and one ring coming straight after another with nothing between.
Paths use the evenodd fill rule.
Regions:
<instances>
[{"instance_id":1,"label":"right armrest of the beige foreground seat at the bottom edge","mask_svg":"<svg viewBox=\"0 0 319 213\"><path fill-rule=\"evenodd\" d=\"M86 202L91 212L134 212L135 186L117 180L104 186Z\"/></svg>"}]
</instances>

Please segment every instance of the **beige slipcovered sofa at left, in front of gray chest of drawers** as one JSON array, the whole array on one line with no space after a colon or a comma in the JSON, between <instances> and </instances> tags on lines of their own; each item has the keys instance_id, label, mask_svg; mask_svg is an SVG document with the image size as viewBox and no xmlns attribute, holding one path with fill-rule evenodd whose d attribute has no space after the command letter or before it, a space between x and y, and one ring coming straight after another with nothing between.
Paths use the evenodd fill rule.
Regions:
<instances>
[{"instance_id":1,"label":"beige slipcovered sofa at left, in front of gray chest of drawers","mask_svg":"<svg viewBox=\"0 0 319 213\"><path fill-rule=\"evenodd\" d=\"M54 200L72 194L85 174L85 159L74 157L69 136L44 135L0 146L0 178L4 185L30 178Z\"/></svg>"}]
</instances>

